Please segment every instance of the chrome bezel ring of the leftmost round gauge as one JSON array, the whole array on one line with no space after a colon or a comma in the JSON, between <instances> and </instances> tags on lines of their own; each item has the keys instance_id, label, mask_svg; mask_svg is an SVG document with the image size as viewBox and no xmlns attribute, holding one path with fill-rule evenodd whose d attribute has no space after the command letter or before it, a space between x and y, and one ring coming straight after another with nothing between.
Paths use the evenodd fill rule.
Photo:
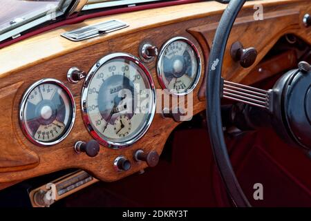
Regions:
<instances>
[{"instance_id":1,"label":"chrome bezel ring of the leftmost round gauge","mask_svg":"<svg viewBox=\"0 0 311 221\"><path fill-rule=\"evenodd\" d=\"M26 107L26 102L27 102L27 99L28 99L30 93L32 92L32 90L34 90L35 88L37 88L37 86L39 86L41 84L55 84L55 85L59 86L60 88L62 88L64 90L64 92L66 93L66 95L68 96L70 104L73 108L73 115L71 117L70 125L68 126L66 132L62 135L62 137L59 137L57 140L55 140L53 142L41 142L39 140L36 140L34 137L32 137L32 135L30 135L30 133L28 133L28 130L26 128L26 123L23 119L23 117L24 117L23 111ZM73 94L70 92L69 88L67 88L67 86L64 83L62 83L62 81L59 81L59 80L53 79L53 78L44 78L44 79L41 79L39 81L36 81L34 84L32 84L23 93L23 97L21 98L21 103L19 105L19 124L21 126L21 131L23 131L23 134L33 144L36 144L37 146L53 146L55 144L59 144L59 142L62 142L69 135L70 131L73 129L73 125L75 124L75 117L76 117L75 112L76 112L75 99L73 97Z\"/></svg>"}]
</instances>

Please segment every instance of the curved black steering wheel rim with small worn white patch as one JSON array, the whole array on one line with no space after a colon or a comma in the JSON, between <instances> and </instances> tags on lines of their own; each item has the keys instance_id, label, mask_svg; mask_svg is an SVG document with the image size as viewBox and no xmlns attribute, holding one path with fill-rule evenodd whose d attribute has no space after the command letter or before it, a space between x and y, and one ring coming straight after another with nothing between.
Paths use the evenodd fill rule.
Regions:
<instances>
[{"instance_id":1,"label":"curved black steering wheel rim with small worn white patch","mask_svg":"<svg viewBox=\"0 0 311 221\"><path fill-rule=\"evenodd\" d=\"M223 124L221 119L220 98L222 87L221 73L223 68L223 58L230 32L238 12L243 8L246 0L231 0L223 12L220 19L214 43L209 54L208 66L205 66L206 77L206 115L207 128L214 159L220 171L227 193L238 207L249 207L251 204L247 200L245 193L241 189L236 178L229 153L223 135Z\"/></svg>"}]
</instances>

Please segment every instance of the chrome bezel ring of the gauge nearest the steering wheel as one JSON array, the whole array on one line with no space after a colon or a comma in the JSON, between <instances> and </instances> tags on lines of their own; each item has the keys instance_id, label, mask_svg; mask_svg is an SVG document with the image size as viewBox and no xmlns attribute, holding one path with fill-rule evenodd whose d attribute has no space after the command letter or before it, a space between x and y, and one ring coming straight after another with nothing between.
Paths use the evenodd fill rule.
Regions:
<instances>
[{"instance_id":1,"label":"chrome bezel ring of the gauge nearest the steering wheel","mask_svg":"<svg viewBox=\"0 0 311 221\"><path fill-rule=\"evenodd\" d=\"M164 79L163 79L163 76L162 76L162 68L161 68L161 66L162 66L162 60L163 60L164 52L167 49L167 47L171 43L173 43L173 41L185 41L194 50L194 52L196 53L196 58L198 59L198 70L197 70L197 73L196 73L196 79L194 81L194 84L192 84L191 88L185 90L185 92L183 92L183 93L176 93L173 90L169 90L169 88L167 88L167 86L165 85ZM158 76L158 81L160 83L160 86L163 89L167 89L170 94L177 95L177 96L182 96L182 95L187 95L187 94L191 93L191 91L193 91L194 88L196 88L196 86L198 85L198 81L200 81L201 70L202 70L202 62L201 62L200 52L198 51L198 48L196 48L194 43L192 41L190 41L189 39L187 39L185 37L173 37L173 38L169 39L167 42L165 42L165 44L162 46L162 48L160 50L160 53L158 55L158 60L157 60L157 76Z\"/></svg>"}]
</instances>

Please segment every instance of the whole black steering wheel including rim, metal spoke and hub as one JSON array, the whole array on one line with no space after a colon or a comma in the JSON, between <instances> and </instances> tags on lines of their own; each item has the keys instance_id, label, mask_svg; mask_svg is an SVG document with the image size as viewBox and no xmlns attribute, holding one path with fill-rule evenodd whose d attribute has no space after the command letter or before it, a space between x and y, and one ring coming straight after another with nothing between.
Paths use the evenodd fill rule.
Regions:
<instances>
[{"instance_id":1,"label":"whole black steering wheel including rim, metal spoke and hub","mask_svg":"<svg viewBox=\"0 0 311 221\"><path fill-rule=\"evenodd\" d=\"M272 118L271 122L274 130L281 135L285 142L302 147L304 150L311 150L311 68L309 64L301 62L299 69L285 73L276 82L274 88L267 91L229 81L224 83L221 77L229 34L245 1L229 1L216 30L208 66L205 66L205 75L207 75L205 82L206 114L211 147L227 193L229 193L234 204L241 207L251 206L251 204L249 204L243 193L232 169L223 135L220 99L224 94L225 84L231 84L231 86L234 84L234 88L240 87L243 90L249 90L250 93L256 93L256 96L252 97L258 95L258 98L261 99L260 102L247 97L247 93L244 93L246 96L244 103L259 106L268 111L269 117ZM241 91L239 91L240 95ZM239 99L234 99L237 97ZM243 98L240 97L234 93L232 94L232 99L243 102ZM262 101L263 99L266 99L265 102ZM303 106L305 108L302 108Z\"/></svg>"}]
</instances>

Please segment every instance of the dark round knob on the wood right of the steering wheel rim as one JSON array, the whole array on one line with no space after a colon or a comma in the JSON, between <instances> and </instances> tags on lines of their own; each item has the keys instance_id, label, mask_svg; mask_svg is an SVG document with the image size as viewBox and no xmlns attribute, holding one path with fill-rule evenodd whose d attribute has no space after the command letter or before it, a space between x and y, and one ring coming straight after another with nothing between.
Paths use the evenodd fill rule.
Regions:
<instances>
[{"instance_id":1,"label":"dark round knob on the wood right of the steering wheel rim","mask_svg":"<svg viewBox=\"0 0 311 221\"><path fill-rule=\"evenodd\" d=\"M231 56L234 61L240 61L243 68L252 66L257 58L258 52L255 48L244 48L240 41L236 41L231 47Z\"/></svg>"}]
</instances>

